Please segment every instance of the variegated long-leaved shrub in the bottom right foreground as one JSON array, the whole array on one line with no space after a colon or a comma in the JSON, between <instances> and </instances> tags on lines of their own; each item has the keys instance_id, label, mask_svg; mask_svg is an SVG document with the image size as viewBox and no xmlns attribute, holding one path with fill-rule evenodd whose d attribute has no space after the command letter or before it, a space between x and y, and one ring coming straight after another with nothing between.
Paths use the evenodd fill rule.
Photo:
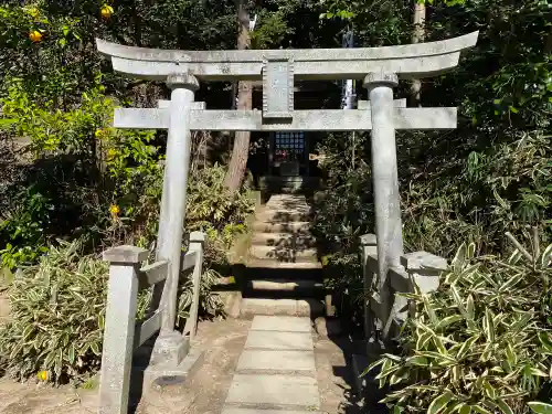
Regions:
<instances>
[{"instance_id":1,"label":"variegated long-leaved shrub in the bottom right foreground","mask_svg":"<svg viewBox=\"0 0 552 414\"><path fill-rule=\"evenodd\" d=\"M369 368L381 365L394 413L552 410L529 403L550 401L552 383L552 245L541 253L532 241L531 254L516 242L506 261L473 258L475 245L464 244L436 293L405 295L417 309L399 339L403 353Z\"/></svg>"}]
</instances>

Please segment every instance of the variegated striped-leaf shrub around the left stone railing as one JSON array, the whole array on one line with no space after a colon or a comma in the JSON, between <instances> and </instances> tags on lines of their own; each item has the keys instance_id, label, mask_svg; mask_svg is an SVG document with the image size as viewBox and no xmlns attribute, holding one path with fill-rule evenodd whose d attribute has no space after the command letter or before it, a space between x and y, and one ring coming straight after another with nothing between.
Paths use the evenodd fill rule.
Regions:
<instances>
[{"instance_id":1,"label":"variegated striped-leaf shrub around the left stone railing","mask_svg":"<svg viewBox=\"0 0 552 414\"><path fill-rule=\"evenodd\" d=\"M79 382L99 369L107 298L108 264L82 256L82 241L59 242L36 265L20 269L8 288L11 321L0 327L0 368L22 380L46 371L55 383ZM217 274L204 268L200 316L222 314L212 294ZM189 316L191 278L179 289L178 325ZM138 298L137 319L146 316L151 290Z\"/></svg>"}]
</instances>

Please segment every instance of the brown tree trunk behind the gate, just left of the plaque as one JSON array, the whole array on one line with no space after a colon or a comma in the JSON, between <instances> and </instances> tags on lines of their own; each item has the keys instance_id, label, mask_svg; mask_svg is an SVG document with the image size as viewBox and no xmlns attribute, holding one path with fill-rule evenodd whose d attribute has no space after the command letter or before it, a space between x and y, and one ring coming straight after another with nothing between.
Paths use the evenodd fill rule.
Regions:
<instances>
[{"instance_id":1,"label":"brown tree trunk behind the gate, just left of the plaque","mask_svg":"<svg viewBox=\"0 0 552 414\"><path fill-rule=\"evenodd\" d=\"M237 34L237 49L248 49L251 46L250 38L250 14L245 10L244 0L236 0L237 23L240 32ZM237 109L251 110L253 106L253 88L251 82L241 81L237 84ZM234 137L234 147L230 158L229 170L224 178L224 185L235 193L240 190L242 180L247 167L247 157L250 155L250 131L237 131Z\"/></svg>"}]
</instances>

